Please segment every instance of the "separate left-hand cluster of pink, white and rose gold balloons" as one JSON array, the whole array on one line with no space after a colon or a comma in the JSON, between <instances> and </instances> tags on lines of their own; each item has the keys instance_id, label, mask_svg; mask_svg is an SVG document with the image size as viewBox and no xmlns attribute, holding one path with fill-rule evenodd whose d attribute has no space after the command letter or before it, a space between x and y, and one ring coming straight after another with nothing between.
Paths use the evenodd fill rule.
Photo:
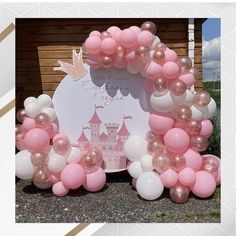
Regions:
<instances>
[{"instance_id":1,"label":"separate left-hand cluster of pink, white and rose gold balloons","mask_svg":"<svg viewBox=\"0 0 236 236\"><path fill-rule=\"evenodd\" d=\"M16 176L32 180L41 189L52 187L56 196L83 186L87 191L101 190L106 174L100 167L101 151L90 147L82 153L71 145L68 137L59 133L51 98L42 94L24 101L17 112Z\"/></svg>"}]
</instances>

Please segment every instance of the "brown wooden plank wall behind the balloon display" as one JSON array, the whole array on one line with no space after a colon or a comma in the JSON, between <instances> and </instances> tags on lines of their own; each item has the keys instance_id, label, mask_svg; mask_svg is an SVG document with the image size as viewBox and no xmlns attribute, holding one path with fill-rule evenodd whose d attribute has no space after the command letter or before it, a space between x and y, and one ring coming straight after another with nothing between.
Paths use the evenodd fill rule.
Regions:
<instances>
[{"instance_id":1,"label":"brown wooden plank wall behind the balloon display","mask_svg":"<svg viewBox=\"0 0 236 236\"><path fill-rule=\"evenodd\" d=\"M72 49L79 50L92 30L105 31L111 25L121 29L140 26L147 19L16 19L17 106L28 96L53 95L65 74L53 71L57 60L71 62ZM150 19L149 19L150 20ZM187 55L188 19L151 19L157 35L178 55ZM196 65L201 72L201 20L196 24ZM201 82L197 82L200 88Z\"/></svg>"}]
</instances>

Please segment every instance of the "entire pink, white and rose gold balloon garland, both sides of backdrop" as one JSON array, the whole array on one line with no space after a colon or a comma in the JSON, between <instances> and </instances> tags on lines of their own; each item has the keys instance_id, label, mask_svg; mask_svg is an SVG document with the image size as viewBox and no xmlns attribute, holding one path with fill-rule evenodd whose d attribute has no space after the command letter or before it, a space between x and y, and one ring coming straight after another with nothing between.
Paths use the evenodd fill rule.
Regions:
<instances>
[{"instance_id":1,"label":"entire pink, white and rose gold balloon garland, both sides of backdrop","mask_svg":"<svg viewBox=\"0 0 236 236\"><path fill-rule=\"evenodd\" d=\"M216 103L206 91L191 91L198 77L192 60L178 57L155 33L156 26L149 21L124 30L112 26L104 32L92 31L82 48L93 69L116 67L140 73L150 93L150 130L145 137L131 135L124 146L138 194L154 200L165 187L176 203L185 203L191 191L206 198L220 184L220 159L200 154L213 132L209 118ZM99 191L106 182L102 152L96 146L86 153L73 147L59 133L56 118L48 95L24 101L24 109L17 112L21 125L16 125L20 150L16 176L32 179L42 189L52 186L56 196L80 186Z\"/></svg>"}]
</instances>

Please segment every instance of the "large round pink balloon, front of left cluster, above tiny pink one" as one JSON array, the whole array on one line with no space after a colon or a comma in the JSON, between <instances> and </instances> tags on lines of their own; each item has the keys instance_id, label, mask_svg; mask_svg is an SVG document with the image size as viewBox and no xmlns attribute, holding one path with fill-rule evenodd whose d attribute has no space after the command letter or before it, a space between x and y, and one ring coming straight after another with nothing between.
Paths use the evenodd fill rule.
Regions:
<instances>
[{"instance_id":1,"label":"large round pink balloon, front of left cluster, above tiny pink one","mask_svg":"<svg viewBox=\"0 0 236 236\"><path fill-rule=\"evenodd\" d=\"M69 163L61 172L61 181L69 189L79 188L85 179L85 170L77 163Z\"/></svg>"}]
</instances>

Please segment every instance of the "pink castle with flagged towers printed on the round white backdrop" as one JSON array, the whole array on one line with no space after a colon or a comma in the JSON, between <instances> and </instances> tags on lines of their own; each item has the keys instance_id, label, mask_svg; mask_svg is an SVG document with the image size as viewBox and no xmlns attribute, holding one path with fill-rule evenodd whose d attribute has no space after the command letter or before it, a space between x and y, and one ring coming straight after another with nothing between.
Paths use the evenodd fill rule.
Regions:
<instances>
[{"instance_id":1,"label":"pink castle with flagged towers printed on the round white backdrop","mask_svg":"<svg viewBox=\"0 0 236 236\"><path fill-rule=\"evenodd\" d=\"M123 122L104 124L106 132L100 133L102 125L101 119L97 115L97 109L103 109L103 106L96 106L93 116L88 121L90 127L83 127L80 137L77 139L78 146L82 152L85 152L90 146L97 146L103 153L104 168L106 170L125 169L127 166L127 158L124 154L124 143L128 139L130 132L128 131L125 120L132 119L131 116L123 116ZM89 140L84 130L90 130Z\"/></svg>"}]
</instances>

